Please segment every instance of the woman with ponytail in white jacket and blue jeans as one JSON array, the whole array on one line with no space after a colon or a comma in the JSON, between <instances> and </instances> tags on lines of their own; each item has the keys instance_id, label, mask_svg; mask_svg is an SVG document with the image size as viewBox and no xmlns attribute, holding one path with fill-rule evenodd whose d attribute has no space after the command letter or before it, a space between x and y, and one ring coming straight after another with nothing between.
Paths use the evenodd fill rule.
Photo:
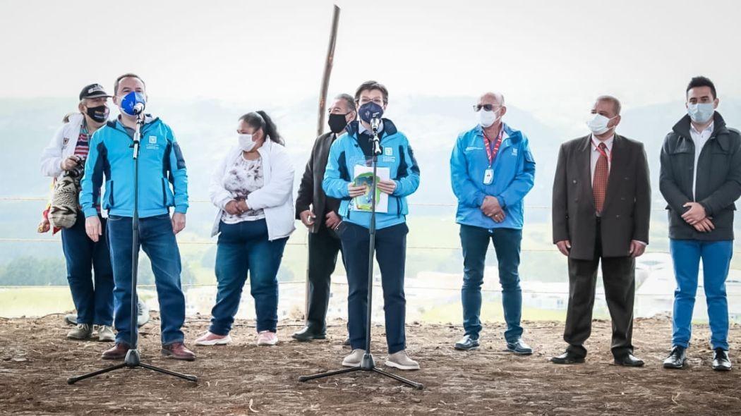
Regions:
<instances>
[{"instance_id":1,"label":"woman with ponytail in white jacket and blue jeans","mask_svg":"<svg viewBox=\"0 0 741 416\"><path fill-rule=\"evenodd\" d=\"M293 232L293 166L276 126L264 111L239 118L239 144L213 172L216 205L213 235L218 294L209 330L196 345L229 343L242 287L250 276L255 300L257 345L278 342L278 269Z\"/></svg>"}]
</instances>

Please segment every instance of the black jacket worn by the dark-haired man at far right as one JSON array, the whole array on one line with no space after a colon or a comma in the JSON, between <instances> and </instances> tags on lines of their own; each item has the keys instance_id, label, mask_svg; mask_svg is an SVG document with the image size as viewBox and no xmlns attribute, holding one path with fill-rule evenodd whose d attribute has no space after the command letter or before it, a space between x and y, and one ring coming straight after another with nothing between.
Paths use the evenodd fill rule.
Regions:
<instances>
[{"instance_id":1,"label":"black jacket worn by the dark-haired man at far right","mask_svg":"<svg viewBox=\"0 0 741 416\"><path fill-rule=\"evenodd\" d=\"M720 241L734 238L734 202L741 196L741 135L725 127L720 114L714 114L714 130L697 161L697 195L692 189L694 141L690 117L685 115L666 135L661 148L659 187L668 205L669 238L677 240ZM696 201L705 208L715 229L699 232L682 219L682 205Z\"/></svg>"}]
</instances>

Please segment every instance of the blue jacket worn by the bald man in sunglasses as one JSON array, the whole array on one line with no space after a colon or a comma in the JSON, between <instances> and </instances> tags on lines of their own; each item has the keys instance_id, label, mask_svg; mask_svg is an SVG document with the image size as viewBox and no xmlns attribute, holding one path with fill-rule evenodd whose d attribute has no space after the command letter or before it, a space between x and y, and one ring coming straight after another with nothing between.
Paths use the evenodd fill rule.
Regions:
<instances>
[{"instance_id":1,"label":"blue jacket worn by the bald man in sunglasses","mask_svg":"<svg viewBox=\"0 0 741 416\"><path fill-rule=\"evenodd\" d=\"M533 188L535 160L528 138L519 130L502 124L505 135L494 159L494 181L484 184L489 168L484 130L481 125L458 136L451 155L451 185L458 198L456 223L485 229L522 229L522 198ZM487 195L496 197L505 211L505 220L497 223L484 215L481 204Z\"/></svg>"}]
</instances>

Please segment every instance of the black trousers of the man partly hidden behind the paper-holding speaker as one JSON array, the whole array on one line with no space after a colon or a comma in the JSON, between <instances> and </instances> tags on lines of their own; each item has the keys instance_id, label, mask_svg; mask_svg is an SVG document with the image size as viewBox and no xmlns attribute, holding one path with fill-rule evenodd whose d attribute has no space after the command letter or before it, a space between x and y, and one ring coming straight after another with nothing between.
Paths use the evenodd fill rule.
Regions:
<instances>
[{"instance_id":1,"label":"black trousers of the man partly hidden behind the paper-holding speaker","mask_svg":"<svg viewBox=\"0 0 741 416\"><path fill-rule=\"evenodd\" d=\"M316 334L327 331L330 281L337 264L337 255L341 251L339 237L325 224L319 227L318 232L309 233L309 310L306 325Z\"/></svg>"}]
</instances>

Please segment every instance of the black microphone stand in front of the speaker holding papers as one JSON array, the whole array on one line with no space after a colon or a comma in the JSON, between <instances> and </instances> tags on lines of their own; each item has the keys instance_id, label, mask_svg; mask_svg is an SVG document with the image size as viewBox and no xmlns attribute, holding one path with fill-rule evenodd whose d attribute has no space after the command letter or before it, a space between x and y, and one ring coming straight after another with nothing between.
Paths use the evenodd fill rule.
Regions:
<instances>
[{"instance_id":1,"label":"black microphone stand in front of the speaker holding papers","mask_svg":"<svg viewBox=\"0 0 741 416\"><path fill-rule=\"evenodd\" d=\"M376 182L378 176L376 176L376 169L378 167L378 156L381 155L381 144L378 137L378 129L380 122L377 118L373 118L371 121L371 130L373 131L373 158L371 159L373 166L373 183L371 184L371 227L368 228L368 232L371 235L371 249L368 250L368 316L365 322L365 355L360 362L359 367L350 367L347 369L340 369L330 372L324 372L315 375L302 375L299 377L299 381L315 380L317 378L331 377L333 375L341 375L348 372L376 372L380 375L393 378L394 380L400 381L412 386L415 389L422 390L425 385L422 383L416 383L415 381L408 380L390 372L385 372L382 369L376 367L375 361L373 361L373 355L371 355L371 312L373 312L373 253L376 251Z\"/></svg>"}]
</instances>

